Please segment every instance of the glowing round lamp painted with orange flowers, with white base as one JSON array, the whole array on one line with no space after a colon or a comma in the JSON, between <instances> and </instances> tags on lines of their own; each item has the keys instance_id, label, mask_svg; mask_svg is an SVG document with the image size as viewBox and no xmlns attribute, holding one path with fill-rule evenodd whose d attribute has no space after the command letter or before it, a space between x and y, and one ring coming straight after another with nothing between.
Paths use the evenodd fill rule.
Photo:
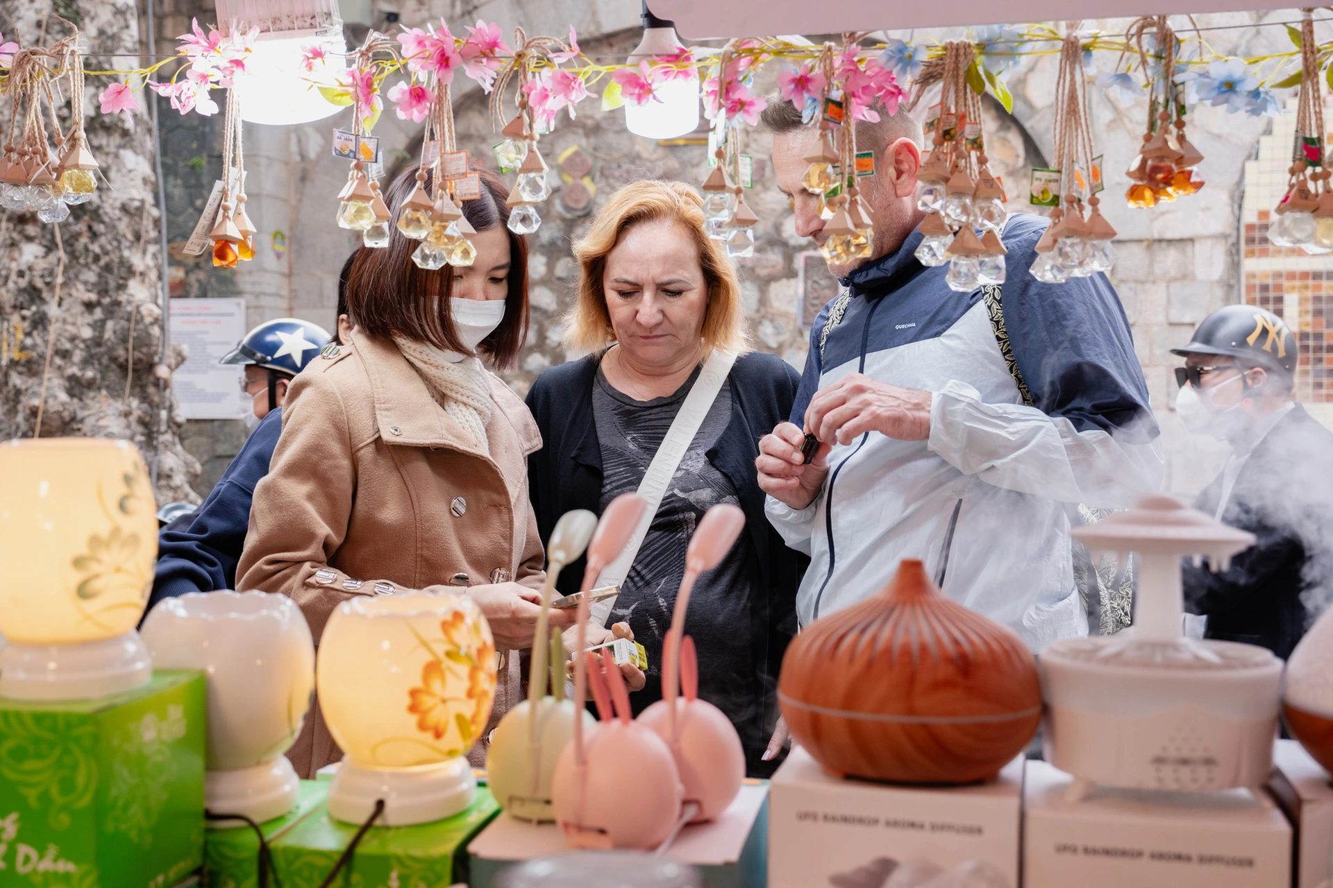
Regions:
<instances>
[{"instance_id":1,"label":"glowing round lamp painted with orange flowers, with white base","mask_svg":"<svg viewBox=\"0 0 1333 888\"><path fill-rule=\"evenodd\" d=\"M357 595L329 616L315 668L320 711L344 752L329 813L376 825L452 816L472 804L464 754L491 716L496 648L471 600L435 592Z\"/></svg>"}]
</instances>

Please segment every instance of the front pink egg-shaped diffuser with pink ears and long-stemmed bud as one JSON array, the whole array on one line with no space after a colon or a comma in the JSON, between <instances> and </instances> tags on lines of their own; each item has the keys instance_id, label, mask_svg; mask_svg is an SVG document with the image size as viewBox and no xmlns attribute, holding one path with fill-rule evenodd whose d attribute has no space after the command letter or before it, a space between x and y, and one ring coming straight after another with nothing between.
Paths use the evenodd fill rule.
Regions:
<instances>
[{"instance_id":1,"label":"front pink egg-shaped diffuser with pink ears and long-stemmed bud","mask_svg":"<svg viewBox=\"0 0 1333 888\"><path fill-rule=\"evenodd\" d=\"M647 503L637 494L616 497L601 515L588 545L583 591L592 588L601 568L615 560L639 525ZM575 660L575 706L588 699L588 596L579 602L579 642ZM670 748L648 727L629 720L629 694L620 668L604 652L607 680L593 674L593 694L603 720L584 736L583 719L575 720L573 742L556 763L551 785L556 823L576 848L652 848L674 831L684 795Z\"/></svg>"}]
</instances>

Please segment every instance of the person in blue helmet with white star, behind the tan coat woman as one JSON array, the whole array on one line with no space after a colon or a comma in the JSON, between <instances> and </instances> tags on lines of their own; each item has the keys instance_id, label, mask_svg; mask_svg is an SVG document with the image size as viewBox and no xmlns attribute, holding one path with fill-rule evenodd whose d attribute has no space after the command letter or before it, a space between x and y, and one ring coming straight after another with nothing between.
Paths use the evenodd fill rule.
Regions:
<instances>
[{"instance_id":1,"label":"person in blue helmet with white star, behind the tan coat woman","mask_svg":"<svg viewBox=\"0 0 1333 888\"><path fill-rule=\"evenodd\" d=\"M351 258L339 276L336 337L331 338L309 321L281 318L251 330L223 358L223 363L245 365L241 418L252 431L204 503L159 533L149 610L164 598L235 588L236 563L245 547L255 485L268 474L273 449L283 433L287 387L325 346L345 342L345 330L351 329L345 294L349 266Z\"/></svg>"}]
</instances>

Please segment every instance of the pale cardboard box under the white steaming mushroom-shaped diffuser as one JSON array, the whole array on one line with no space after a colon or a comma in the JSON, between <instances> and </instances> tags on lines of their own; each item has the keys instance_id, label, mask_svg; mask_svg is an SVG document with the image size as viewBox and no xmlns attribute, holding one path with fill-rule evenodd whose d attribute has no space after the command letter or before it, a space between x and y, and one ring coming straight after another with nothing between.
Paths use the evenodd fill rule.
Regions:
<instances>
[{"instance_id":1,"label":"pale cardboard box under the white steaming mushroom-shaped diffuser","mask_svg":"<svg viewBox=\"0 0 1333 888\"><path fill-rule=\"evenodd\" d=\"M1292 824L1248 789L1153 792L1094 788L1066 801L1070 777L1028 762L1025 888L1285 888Z\"/></svg>"}]
</instances>

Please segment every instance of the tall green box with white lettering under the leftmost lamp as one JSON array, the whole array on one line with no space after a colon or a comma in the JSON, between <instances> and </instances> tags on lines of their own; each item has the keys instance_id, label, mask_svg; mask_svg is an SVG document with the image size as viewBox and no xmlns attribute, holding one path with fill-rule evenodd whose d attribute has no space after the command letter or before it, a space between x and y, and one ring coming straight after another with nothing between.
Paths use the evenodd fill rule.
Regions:
<instances>
[{"instance_id":1,"label":"tall green box with white lettering under the leftmost lamp","mask_svg":"<svg viewBox=\"0 0 1333 888\"><path fill-rule=\"evenodd\" d=\"M204 675L0 700L0 887L167 888L204 861Z\"/></svg>"}]
</instances>

